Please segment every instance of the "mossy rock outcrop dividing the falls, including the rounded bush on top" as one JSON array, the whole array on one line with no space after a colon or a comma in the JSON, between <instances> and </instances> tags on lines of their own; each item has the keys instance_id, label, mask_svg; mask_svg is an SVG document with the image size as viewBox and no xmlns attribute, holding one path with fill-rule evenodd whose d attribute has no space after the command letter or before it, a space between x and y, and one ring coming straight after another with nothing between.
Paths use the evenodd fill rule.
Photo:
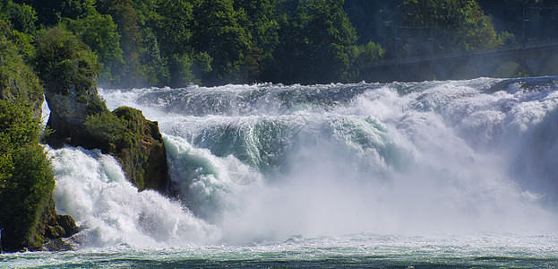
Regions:
<instances>
[{"instance_id":1,"label":"mossy rock outcrop dividing the falls, including the rounded bush on top","mask_svg":"<svg viewBox=\"0 0 558 269\"><path fill-rule=\"evenodd\" d=\"M54 131L47 143L100 149L120 161L138 189L165 192L167 154L158 123L137 109L107 109L97 92L99 65L90 48L70 32L47 30L39 36L36 62L51 110L47 126Z\"/></svg>"}]
</instances>

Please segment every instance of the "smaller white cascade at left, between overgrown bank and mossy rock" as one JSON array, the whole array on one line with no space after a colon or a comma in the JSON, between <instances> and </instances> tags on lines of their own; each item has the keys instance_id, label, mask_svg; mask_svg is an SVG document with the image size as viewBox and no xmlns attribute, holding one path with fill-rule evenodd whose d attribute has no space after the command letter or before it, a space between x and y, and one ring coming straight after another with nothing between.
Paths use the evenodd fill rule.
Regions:
<instances>
[{"instance_id":1,"label":"smaller white cascade at left, between overgrown bank and mossy rock","mask_svg":"<svg viewBox=\"0 0 558 269\"><path fill-rule=\"evenodd\" d=\"M130 244L167 247L219 239L219 230L177 202L153 191L138 192L116 159L98 150L49 150L56 177L56 210L82 226L89 247Z\"/></svg>"}]
</instances>

